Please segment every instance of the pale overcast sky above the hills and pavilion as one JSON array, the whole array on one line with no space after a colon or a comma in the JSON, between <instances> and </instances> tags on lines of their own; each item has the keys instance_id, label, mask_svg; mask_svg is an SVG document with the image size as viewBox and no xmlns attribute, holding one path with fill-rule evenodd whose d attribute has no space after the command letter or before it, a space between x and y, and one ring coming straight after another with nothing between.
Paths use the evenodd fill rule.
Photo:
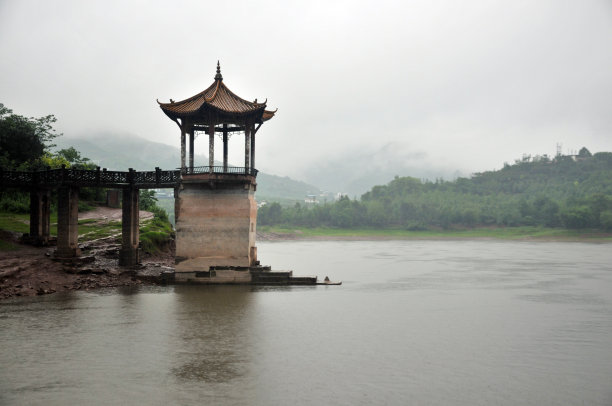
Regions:
<instances>
[{"instance_id":1,"label":"pale overcast sky above the hills and pavilion","mask_svg":"<svg viewBox=\"0 0 612 406\"><path fill-rule=\"evenodd\" d=\"M467 173L557 143L612 151L610 0L0 0L0 102L66 136L178 146L155 100L205 89L217 60L278 107L257 134L274 174L389 149Z\"/></svg>"}]
</instances>

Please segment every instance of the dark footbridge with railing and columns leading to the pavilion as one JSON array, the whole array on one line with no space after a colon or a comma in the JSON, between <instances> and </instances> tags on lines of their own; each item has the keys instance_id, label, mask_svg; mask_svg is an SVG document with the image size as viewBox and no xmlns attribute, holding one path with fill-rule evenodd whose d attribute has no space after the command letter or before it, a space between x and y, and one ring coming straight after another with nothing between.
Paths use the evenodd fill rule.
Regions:
<instances>
[{"instance_id":1,"label":"dark footbridge with railing and columns leading to the pavilion","mask_svg":"<svg viewBox=\"0 0 612 406\"><path fill-rule=\"evenodd\" d=\"M119 264L132 266L139 262L139 191L140 189L177 189L184 177L206 177L214 182L230 177L255 177L254 168L230 166L185 167L182 170L109 171L62 167L40 171L10 171L0 168L0 187L30 192L30 232L34 244L49 241L51 191L58 192L56 256L69 258L80 254L78 248L79 188L109 188L123 191L122 246Z\"/></svg>"}]
</instances>

